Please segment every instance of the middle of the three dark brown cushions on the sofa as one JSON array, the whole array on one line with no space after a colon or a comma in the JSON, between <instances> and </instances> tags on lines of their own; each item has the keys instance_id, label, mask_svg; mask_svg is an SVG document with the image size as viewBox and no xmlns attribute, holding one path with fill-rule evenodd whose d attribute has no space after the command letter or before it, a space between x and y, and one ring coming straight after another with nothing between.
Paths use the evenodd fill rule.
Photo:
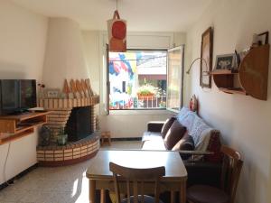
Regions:
<instances>
[{"instance_id":1,"label":"middle of the three dark brown cushions on the sofa","mask_svg":"<svg viewBox=\"0 0 271 203\"><path fill-rule=\"evenodd\" d=\"M181 125L177 120L175 120L164 137L164 145L166 149L173 149L173 146L182 139L185 132L186 127Z\"/></svg>"}]
</instances>

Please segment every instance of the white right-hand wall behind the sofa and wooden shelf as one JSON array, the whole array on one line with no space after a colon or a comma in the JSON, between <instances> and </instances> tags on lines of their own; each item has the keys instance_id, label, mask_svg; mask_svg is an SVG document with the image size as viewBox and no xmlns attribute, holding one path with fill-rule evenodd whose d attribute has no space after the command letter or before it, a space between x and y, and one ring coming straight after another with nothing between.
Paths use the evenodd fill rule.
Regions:
<instances>
[{"instance_id":1,"label":"white right-hand wall behind the sofa and wooden shelf","mask_svg":"<svg viewBox=\"0 0 271 203\"><path fill-rule=\"evenodd\" d=\"M213 1L208 11L187 34L188 59L201 55L201 33L214 27L213 60L218 54L248 48L253 33L271 31L271 2L268 0ZM186 67L188 69L188 67ZM243 155L244 166L238 184L238 203L271 202L271 71L268 99L260 101L249 96L220 92L199 86L199 63L192 69L191 95L200 100L200 115L220 129L223 142ZM270 67L269 67L270 69ZM212 81L213 82L213 81Z\"/></svg>"}]
</instances>

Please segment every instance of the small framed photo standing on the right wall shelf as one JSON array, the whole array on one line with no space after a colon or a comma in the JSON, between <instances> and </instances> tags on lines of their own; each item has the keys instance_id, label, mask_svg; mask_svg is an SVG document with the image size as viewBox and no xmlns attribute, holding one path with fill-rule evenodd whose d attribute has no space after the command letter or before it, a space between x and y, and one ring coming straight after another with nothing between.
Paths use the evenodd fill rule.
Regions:
<instances>
[{"instance_id":1,"label":"small framed photo standing on the right wall shelf","mask_svg":"<svg viewBox=\"0 0 271 203\"><path fill-rule=\"evenodd\" d=\"M234 53L217 56L215 69L235 69L236 67L236 55Z\"/></svg>"}]
</instances>

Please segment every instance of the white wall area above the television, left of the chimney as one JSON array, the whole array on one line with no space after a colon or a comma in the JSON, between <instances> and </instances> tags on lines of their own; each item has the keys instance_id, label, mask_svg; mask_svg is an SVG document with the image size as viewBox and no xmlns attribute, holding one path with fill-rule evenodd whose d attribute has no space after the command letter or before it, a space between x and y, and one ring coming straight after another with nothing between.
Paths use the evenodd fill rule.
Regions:
<instances>
[{"instance_id":1,"label":"white wall area above the television, left of the chimney","mask_svg":"<svg viewBox=\"0 0 271 203\"><path fill-rule=\"evenodd\" d=\"M0 1L0 78L42 78L47 19Z\"/></svg>"}]
</instances>

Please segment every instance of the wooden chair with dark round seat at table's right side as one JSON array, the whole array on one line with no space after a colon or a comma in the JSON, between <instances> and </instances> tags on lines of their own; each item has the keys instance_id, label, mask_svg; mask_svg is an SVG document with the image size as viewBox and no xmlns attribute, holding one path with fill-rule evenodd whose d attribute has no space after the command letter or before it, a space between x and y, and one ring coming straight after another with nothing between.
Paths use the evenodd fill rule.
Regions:
<instances>
[{"instance_id":1,"label":"wooden chair with dark round seat at table's right side","mask_svg":"<svg viewBox=\"0 0 271 203\"><path fill-rule=\"evenodd\" d=\"M238 187L238 179L242 169L243 161L239 152L222 146L224 154L220 189L207 185L194 185L187 190L189 203L233 203Z\"/></svg>"}]
</instances>

